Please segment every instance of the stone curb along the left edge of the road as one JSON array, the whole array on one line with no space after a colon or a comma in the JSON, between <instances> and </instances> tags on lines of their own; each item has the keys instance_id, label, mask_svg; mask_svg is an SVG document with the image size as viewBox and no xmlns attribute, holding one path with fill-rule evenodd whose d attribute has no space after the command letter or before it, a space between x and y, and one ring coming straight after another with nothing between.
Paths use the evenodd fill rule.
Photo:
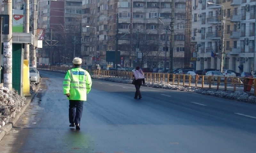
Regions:
<instances>
[{"instance_id":1,"label":"stone curb along the left edge of the road","mask_svg":"<svg viewBox=\"0 0 256 153\"><path fill-rule=\"evenodd\" d=\"M39 86L38 86L39 87ZM32 99L36 96L36 93L39 88L36 88L34 93L31 93L31 96L26 97L26 101L24 102L25 105L21 108L20 112L18 112L14 118L10 120L9 123L5 124L0 128L0 141L3 139L4 135L7 134L9 131L11 131L12 127L15 125L15 123L18 121L20 116L24 113L24 111L29 106Z\"/></svg>"}]
</instances>

